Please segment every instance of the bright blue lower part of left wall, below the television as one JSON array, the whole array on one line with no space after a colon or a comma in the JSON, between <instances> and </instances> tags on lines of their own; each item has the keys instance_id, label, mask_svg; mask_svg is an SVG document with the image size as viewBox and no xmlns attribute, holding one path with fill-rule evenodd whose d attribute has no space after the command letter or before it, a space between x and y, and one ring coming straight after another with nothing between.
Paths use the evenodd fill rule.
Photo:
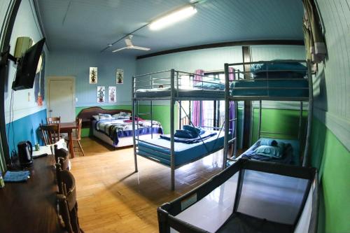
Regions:
<instances>
[{"instance_id":1,"label":"bright blue lower part of left wall, below the television","mask_svg":"<svg viewBox=\"0 0 350 233\"><path fill-rule=\"evenodd\" d=\"M38 127L39 124L43 124L45 122L46 109L6 124L6 132L8 132L8 127L10 127L10 134L8 134L8 147L10 148L10 152L13 149L17 150L17 144L20 141L29 140L33 145L35 143L40 143L43 145ZM15 132L14 142L13 132Z\"/></svg>"}]
</instances>

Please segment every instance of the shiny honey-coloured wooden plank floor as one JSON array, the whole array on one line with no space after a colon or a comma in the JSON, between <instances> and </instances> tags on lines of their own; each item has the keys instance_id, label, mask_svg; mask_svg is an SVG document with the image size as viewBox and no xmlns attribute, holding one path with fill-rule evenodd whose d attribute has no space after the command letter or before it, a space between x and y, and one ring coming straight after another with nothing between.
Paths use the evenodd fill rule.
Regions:
<instances>
[{"instance_id":1,"label":"shiny honey-coloured wooden plank floor","mask_svg":"<svg viewBox=\"0 0 350 233\"><path fill-rule=\"evenodd\" d=\"M71 160L76 178L78 216L85 232L158 232L157 207L192 190L221 171L222 152L175 171L138 156L134 173L132 148L110 150L84 138L85 157Z\"/></svg>"}]
</instances>

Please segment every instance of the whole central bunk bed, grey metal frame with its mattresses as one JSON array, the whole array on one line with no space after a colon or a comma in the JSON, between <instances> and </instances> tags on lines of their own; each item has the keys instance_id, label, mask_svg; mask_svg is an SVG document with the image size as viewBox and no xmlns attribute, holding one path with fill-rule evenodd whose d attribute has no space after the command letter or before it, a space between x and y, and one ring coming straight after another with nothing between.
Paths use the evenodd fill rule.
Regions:
<instances>
[{"instance_id":1,"label":"whole central bunk bed, grey metal frame with its mattresses","mask_svg":"<svg viewBox=\"0 0 350 233\"><path fill-rule=\"evenodd\" d=\"M194 80L200 76L200 80ZM189 81L189 80L190 81ZM153 139L142 140L134 135L134 166L137 169L137 155L158 162L171 169L171 188L175 188L175 169L200 160L202 157L215 153L223 149L225 133L223 125L221 127L206 127L204 134L199 134L193 143L184 143L175 136L175 104L179 103L179 108L183 110L188 119L191 113L186 113L181 105L181 101L206 101L224 100L225 85L215 78L204 75L176 71L160 71L146 73L132 78L132 113L133 131L137 131L137 118L135 116L148 115L153 121L153 101L169 101L170 108L170 134L167 139L154 137ZM139 113L139 101L150 101L149 112ZM180 111L181 113L181 111ZM236 112L235 112L236 113ZM195 127L193 122L189 122L190 127ZM181 116L179 117L179 129L181 129ZM207 135L211 135L207 137ZM235 140L235 130L230 129L229 135Z\"/></svg>"}]
</instances>

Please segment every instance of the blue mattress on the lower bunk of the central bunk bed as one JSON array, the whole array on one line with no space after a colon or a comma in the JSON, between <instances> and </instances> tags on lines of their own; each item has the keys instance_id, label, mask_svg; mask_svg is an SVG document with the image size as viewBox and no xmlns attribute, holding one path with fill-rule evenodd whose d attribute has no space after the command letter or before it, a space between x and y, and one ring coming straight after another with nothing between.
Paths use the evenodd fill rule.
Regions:
<instances>
[{"instance_id":1,"label":"blue mattress on the lower bunk of the central bunk bed","mask_svg":"<svg viewBox=\"0 0 350 233\"><path fill-rule=\"evenodd\" d=\"M202 142L193 144L175 142L175 166L178 167L181 164L186 164L197 160L200 157L204 157L204 155L207 155L208 153L219 150L223 148L223 142L223 132L204 140L205 146ZM158 138L139 141L138 149L139 155L151 157L167 166L171 165L170 141L168 140Z\"/></svg>"}]
</instances>

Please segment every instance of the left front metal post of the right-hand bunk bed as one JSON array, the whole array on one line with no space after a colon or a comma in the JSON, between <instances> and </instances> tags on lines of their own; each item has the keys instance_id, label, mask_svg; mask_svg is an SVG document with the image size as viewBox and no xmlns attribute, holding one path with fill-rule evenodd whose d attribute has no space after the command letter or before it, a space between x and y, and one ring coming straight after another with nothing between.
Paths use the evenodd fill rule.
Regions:
<instances>
[{"instance_id":1,"label":"left front metal post of the right-hand bunk bed","mask_svg":"<svg viewBox=\"0 0 350 233\"><path fill-rule=\"evenodd\" d=\"M223 169L226 168L228 158L228 133L230 131L230 83L229 83L228 63L225 63L225 136L223 141Z\"/></svg>"}]
</instances>

